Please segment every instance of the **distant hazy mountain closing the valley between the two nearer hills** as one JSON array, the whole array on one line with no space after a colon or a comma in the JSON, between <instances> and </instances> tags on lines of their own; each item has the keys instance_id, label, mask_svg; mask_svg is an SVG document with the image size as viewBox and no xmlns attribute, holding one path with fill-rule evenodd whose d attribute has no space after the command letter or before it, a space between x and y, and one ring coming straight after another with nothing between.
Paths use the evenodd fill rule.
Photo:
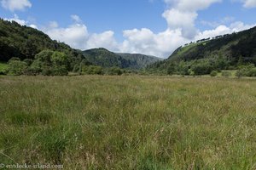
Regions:
<instances>
[{"instance_id":1,"label":"distant hazy mountain closing the valley between the two nearer hills","mask_svg":"<svg viewBox=\"0 0 256 170\"><path fill-rule=\"evenodd\" d=\"M102 67L118 66L119 68L142 69L161 59L143 54L120 54L105 48L93 48L83 51L85 59Z\"/></svg>"}]
</instances>

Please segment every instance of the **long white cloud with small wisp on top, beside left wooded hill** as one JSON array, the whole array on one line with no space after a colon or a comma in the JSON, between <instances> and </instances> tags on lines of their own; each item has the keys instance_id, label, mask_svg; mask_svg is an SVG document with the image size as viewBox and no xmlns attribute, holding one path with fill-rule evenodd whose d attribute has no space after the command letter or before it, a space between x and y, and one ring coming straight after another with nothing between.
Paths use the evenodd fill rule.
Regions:
<instances>
[{"instance_id":1,"label":"long white cloud with small wisp on top, beside left wooded hill","mask_svg":"<svg viewBox=\"0 0 256 170\"><path fill-rule=\"evenodd\" d=\"M117 51L118 42L115 41L113 31L104 31L102 33L90 33L87 27L82 23L78 15L71 15L75 22L71 26L61 28L58 23L52 21L43 31L52 39L60 42L66 42L72 48L88 49L88 48L108 48ZM79 22L79 23L78 23Z\"/></svg>"}]
</instances>

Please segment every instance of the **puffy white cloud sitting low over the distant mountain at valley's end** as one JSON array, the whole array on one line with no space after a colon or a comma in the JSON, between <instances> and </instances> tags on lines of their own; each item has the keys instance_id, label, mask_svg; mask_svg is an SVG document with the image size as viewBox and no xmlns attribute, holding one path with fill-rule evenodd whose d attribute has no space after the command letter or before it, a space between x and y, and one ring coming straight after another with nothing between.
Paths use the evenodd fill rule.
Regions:
<instances>
[{"instance_id":1,"label":"puffy white cloud sitting low over the distant mountain at valley's end","mask_svg":"<svg viewBox=\"0 0 256 170\"><path fill-rule=\"evenodd\" d=\"M128 53L150 54L167 57L181 44L188 40L182 37L180 29L167 29L154 34L146 28L141 30L124 31L125 41L121 44L120 51Z\"/></svg>"}]
</instances>

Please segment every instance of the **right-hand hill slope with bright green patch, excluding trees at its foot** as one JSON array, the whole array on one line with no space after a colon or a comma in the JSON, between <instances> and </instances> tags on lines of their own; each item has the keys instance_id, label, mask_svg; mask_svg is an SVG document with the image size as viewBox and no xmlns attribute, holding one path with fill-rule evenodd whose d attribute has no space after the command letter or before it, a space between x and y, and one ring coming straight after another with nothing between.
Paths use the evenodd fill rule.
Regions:
<instances>
[{"instance_id":1,"label":"right-hand hill slope with bright green patch, excluding trees at its foot","mask_svg":"<svg viewBox=\"0 0 256 170\"><path fill-rule=\"evenodd\" d=\"M246 62L255 62L256 27L179 48L169 59L201 59L218 54L230 58L233 63L236 63L240 57Z\"/></svg>"}]
</instances>

